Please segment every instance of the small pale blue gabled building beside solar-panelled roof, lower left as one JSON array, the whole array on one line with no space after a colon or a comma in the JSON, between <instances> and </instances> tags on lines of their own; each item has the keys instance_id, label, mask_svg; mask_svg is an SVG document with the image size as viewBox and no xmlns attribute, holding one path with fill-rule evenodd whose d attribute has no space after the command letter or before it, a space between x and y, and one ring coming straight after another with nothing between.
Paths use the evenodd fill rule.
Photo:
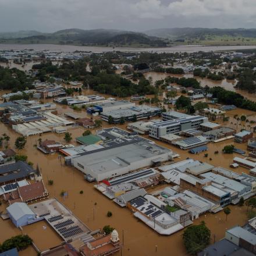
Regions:
<instances>
[{"instance_id":1,"label":"small pale blue gabled building beside solar-panelled roof, lower left","mask_svg":"<svg viewBox=\"0 0 256 256\"><path fill-rule=\"evenodd\" d=\"M6 211L16 227L26 226L35 221L36 218L36 214L34 214L25 202L15 202L7 207Z\"/></svg>"}]
</instances>

